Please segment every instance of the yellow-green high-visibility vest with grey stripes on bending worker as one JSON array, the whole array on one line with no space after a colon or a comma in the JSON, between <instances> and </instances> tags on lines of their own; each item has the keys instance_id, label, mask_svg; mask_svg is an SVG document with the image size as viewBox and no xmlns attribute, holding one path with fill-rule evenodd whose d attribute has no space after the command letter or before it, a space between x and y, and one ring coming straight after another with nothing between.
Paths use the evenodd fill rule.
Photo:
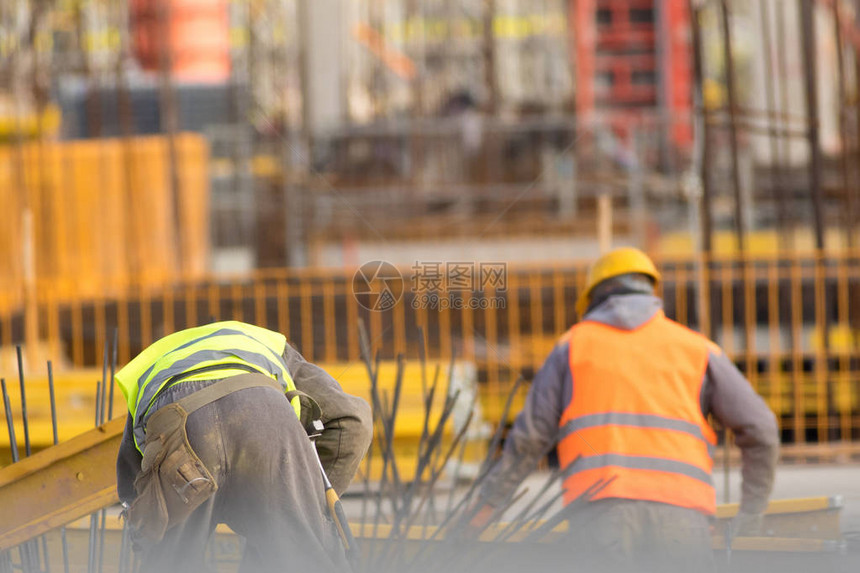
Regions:
<instances>
[{"instance_id":1,"label":"yellow-green high-visibility vest with grey stripes on bending worker","mask_svg":"<svg viewBox=\"0 0 860 573\"><path fill-rule=\"evenodd\" d=\"M144 419L156 396L174 383L227 378L259 372L296 389L284 362L283 334L244 322L215 322L180 330L154 342L122 370L116 380L134 416L134 444L143 451ZM290 403L301 415L298 396Z\"/></svg>"}]
</instances>

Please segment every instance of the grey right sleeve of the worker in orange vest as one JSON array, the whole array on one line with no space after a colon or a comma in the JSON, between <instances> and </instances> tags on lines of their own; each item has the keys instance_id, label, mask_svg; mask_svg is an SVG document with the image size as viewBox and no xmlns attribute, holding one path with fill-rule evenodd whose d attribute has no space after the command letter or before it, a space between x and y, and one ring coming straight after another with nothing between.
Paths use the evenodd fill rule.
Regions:
<instances>
[{"instance_id":1,"label":"grey right sleeve of the worker in orange vest","mask_svg":"<svg viewBox=\"0 0 860 573\"><path fill-rule=\"evenodd\" d=\"M773 489L779 457L776 417L722 352L712 352L705 378L705 413L734 432L741 449L743 485L740 510L761 513Z\"/></svg>"}]
</instances>

